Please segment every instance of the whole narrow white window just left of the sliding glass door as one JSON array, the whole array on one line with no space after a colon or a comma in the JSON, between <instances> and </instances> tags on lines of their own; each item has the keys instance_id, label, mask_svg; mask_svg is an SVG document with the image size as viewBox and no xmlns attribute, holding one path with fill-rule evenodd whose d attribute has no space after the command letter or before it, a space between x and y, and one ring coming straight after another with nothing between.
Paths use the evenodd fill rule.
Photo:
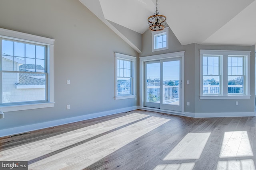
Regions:
<instances>
[{"instance_id":1,"label":"whole narrow white window just left of the sliding glass door","mask_svg":"<svg viewBox=\"0 0 256 170\"><path fill-rule=\"evenodd\" d=\"M135 98L136 57L115 53L116 55L116 100Z\"/></svg>"}]
</instances>

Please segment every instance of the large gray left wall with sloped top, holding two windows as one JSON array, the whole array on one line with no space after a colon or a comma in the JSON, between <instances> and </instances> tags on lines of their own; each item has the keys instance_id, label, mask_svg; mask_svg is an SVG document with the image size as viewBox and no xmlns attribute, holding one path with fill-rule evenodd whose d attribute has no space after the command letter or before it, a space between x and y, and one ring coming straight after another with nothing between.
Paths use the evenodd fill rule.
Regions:
<instances>
[{"instance_id":1,"label":"large gray left wall with sloped top, holding two windows","mask_svg":"<svg viewBox=\"0 0 256 170\"><path fill-rule=\"evenodd\" d=\"M114 52L138 54L78 0L1 0L0 27L55 39L55 106L6 112L0 129L137 106L114 100Z\"/></svg>"}]
</instances>

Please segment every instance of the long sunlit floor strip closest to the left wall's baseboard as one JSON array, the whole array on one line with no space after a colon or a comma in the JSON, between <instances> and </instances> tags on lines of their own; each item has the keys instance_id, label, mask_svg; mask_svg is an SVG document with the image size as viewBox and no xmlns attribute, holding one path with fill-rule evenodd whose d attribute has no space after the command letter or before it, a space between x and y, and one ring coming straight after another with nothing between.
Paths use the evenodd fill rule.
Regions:
<instances>
[{"instance_id":1,"label":"long sunlit floor strip closest to the left wall's baseboard","mask_svg":"<svg viewBox=\"0 0 256 170\"><path fill-rule=\"evenodd\" d=\"M122 117L76 129L74 131L42 139L40 141L34 141L32 143L0 151L0 158L1 160L32 160L39 156L54 152L55 150L62 149L80 141L84 141L96 135L100 135L112 129L121 127L134 121L138 121L148 116L149 115L146 114L132 113ZM32 154L28 155L28 150L31 150Z\"/></svg>"}]
</instances>

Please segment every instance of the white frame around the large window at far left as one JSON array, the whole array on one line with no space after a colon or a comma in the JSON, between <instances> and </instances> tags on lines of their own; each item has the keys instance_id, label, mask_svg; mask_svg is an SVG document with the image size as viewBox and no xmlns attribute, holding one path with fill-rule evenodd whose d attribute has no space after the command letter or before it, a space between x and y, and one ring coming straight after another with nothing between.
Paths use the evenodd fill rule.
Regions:
<instances>
[{"instance_id":1,"label":"white frame around the large window at far left","mask_svg":"<svg viewBox=\"0 0 256 170\"><path fill-rule=\"evenodd\" d=\"M48 72L48 84L46 84L46 88L48 89L48 98L46 102L26 102L26 104L13 104L0 106L0 110L3 112L8 111L19 111L19 110L27 110L27 109L38 109L45 107L54 107L54 39L40 37L37 35L31 35L28 33L22 33L18 31L12 31L9 29L0 28L0 38L10 39L14 41L23 41L27 43L37 43L41 45L46 45L47 47L47 72ZM1 41L0 41L1 43ZM0 48L1 49L1 48ZM2 51L0 51L1 56L1 64L2 67ZM2 73L0 74L0 81L2 87ZM2 97L2 94L1 94Z\"/></svg>"}]
</instances>

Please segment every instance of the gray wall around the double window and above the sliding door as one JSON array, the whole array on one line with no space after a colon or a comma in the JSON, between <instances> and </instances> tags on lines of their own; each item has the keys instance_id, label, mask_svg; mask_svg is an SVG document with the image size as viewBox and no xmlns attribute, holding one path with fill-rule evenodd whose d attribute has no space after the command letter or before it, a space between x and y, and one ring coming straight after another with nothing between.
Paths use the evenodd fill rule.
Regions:
<instances>
[{"instance_id":1,"label":"gray wall around the double window and above the sliding door","mask_svg":"<svg viewBox=\"0 0 256 170\"><path fill-rule=\"evenodd\" d=\"M200 49L252 51L250 54L250 99L200 100ZM185 51L185 84L184 111L190 113L254 112L255 97L255 49L254 46L232 45L198 45L196 43L181 45L169 29L169 49L152 52L152 33L150 30L142 35L142 53L139 57ZM235 106L238 101L239 105ZM190 102L190 106L186 103Z\"/></svg>"}]
</instances>

